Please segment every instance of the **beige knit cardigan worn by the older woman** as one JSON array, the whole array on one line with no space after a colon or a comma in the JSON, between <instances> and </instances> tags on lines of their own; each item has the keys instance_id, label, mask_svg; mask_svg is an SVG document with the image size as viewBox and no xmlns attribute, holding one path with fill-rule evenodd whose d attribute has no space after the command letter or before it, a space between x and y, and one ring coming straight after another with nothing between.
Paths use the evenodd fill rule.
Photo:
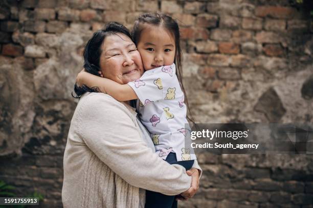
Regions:
<instances>
[{"instance_id":1,"label":"beige knit cardigan worn by the older woman","mask_svg":"<svg viewBox=\"0 0 313 208\"><path fill-rule=\"evenodd\" d=\"M68 207L144 208L145 189L176 195L191 177L154 153L136 112L103 93L85 93L74 112L63 166ZM200 169L197 162L194 166Z\"/></svg>"}]
</instances>

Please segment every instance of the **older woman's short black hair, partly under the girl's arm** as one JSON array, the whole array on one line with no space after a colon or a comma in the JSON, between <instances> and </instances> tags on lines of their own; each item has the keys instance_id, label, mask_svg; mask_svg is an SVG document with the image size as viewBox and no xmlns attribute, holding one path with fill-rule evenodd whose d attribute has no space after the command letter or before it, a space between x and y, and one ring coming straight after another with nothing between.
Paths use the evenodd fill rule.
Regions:
<instances>
[{"instance_id":1,"label":"older woman's short black hair, partly under the girl's arm","mask_svg":"<svg viewBox=\"0 0 313 208\"><path fill-rule=\"evenodd\" d=\"M98 71L100 71L100 57L102 53L101 46L104 39L110 35L116 35L117 33L122 33L128 36L131 40L132 37L128 29L118 22L109 22L107 23L102 30L99 30L94 33L93 37L88 40L83 51L84 58L84 68L87 72L99 76ZM89 88L85 85L78 87L76 84L74 86L75 95L72 96L75 98L80 98L85 92L99 92L97 87Z\"/></svg>"}]
</instances>

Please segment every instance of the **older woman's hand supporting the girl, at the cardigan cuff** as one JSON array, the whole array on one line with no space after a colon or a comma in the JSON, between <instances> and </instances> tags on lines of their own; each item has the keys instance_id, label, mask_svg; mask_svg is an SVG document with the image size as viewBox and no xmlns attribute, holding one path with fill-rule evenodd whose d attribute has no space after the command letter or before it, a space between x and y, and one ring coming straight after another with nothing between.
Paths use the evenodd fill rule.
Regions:
<instances>
[{"instance_id":1,"label":"older woman's hand supporting the girl, at the cardigan cuff","mask_svg":"<svg viewBox=\"0 0 313 208\"><path fill-rule=\"evenodd\" d=\"M188 200L197 192L199 188L199 171L196 168L191 168L187 171L187 174L191 176L191 187L181 193L180 195L176 196L177 200Z\"/></svg>"}]
</instances>

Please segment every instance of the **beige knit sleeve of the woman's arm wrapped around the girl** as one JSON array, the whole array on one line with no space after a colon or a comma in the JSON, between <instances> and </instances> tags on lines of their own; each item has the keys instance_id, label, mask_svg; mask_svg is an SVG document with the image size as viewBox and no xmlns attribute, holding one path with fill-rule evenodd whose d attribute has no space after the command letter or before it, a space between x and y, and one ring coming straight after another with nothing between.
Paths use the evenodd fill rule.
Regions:
<instances>
[{"instance_id":1,"label":"beige knit sleeve of the woman's arm wrapped around the girl","mask_svg":"<svg viewBox=\"0 0 313 208\"><path fill-rule=\"evenodd\" d=\"M87 98L87 99L86 99ZM79 134L87 147L128 184L166 195L190 188L180 165L158 158L141 138L130 111L102 93L91 93L80 109Z\"/></svg>"}]
</instances>

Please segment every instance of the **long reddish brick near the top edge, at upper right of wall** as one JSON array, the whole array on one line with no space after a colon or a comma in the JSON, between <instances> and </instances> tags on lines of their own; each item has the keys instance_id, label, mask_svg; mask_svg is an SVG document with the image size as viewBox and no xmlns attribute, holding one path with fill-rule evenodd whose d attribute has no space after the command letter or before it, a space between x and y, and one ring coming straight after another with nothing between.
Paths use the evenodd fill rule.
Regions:
<instances>
[{"instance_id":1,"label":"long reddish brick near the top edge, at upper right of wall","mask_svg":"<svg viewBox=\"0 0 313 208\"><path fill-rule=\"evenodd\" d=\"M255 15L259 17L293 18L297 13L295 8L279 6L261 6L255 9Z\"/></svg>"}]
</instances>

